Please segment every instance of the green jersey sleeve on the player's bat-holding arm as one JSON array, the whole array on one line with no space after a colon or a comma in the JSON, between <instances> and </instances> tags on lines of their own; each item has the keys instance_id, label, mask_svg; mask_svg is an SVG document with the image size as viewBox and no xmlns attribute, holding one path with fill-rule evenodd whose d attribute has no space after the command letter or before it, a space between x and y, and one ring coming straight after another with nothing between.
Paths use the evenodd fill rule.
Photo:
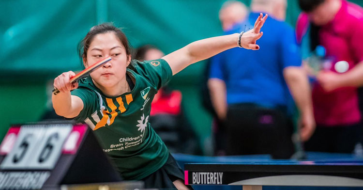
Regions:
<instances>
[{"instance_id":1,"label":"green jersey sleeve on the player's bat-holding arm","mask_svg":"<svg viewBox=\"0 0 363 190\"><path fill-rule=\"evenodd\" d=\"M77 122L83 122L89 116L91 116L95 111L97 111L98 102L100 101L98 95L90 89L77 88L71 91L71 95L76 95L81 98L83 102L82 111L73 118Z\"/></svg>"}]
</instances>

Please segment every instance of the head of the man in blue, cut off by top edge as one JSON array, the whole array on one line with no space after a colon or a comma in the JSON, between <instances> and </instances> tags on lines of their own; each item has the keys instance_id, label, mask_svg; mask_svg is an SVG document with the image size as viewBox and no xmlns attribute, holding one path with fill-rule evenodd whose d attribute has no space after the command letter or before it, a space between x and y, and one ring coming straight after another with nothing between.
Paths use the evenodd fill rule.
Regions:
<instances>
[{"instance_id":1,"label":"head of the man in blue, cut off by top edge","mask_svg":"<svg viewBox=\"0 0 363 190\"><path fill-rule=\"evenodd\" d=\"M253 12L264 12L278 20L286 19L287 0L252 0Z\"/></svg>"}]
</instances>

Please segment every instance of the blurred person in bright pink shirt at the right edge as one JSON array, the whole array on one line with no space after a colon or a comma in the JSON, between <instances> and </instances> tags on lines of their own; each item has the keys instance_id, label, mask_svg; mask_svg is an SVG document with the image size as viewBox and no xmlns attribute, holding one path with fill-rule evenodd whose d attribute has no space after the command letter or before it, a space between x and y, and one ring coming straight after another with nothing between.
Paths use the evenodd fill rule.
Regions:
<instances>
[{"instance_id":1,"label":"blurred person in bright pink shirt at the right edge","mask_svg":"<svg viewBox=\"0 0 363 190\"><path fill-rule=\"evenodd\" d=\"M317 129L305 149L352 153L363 137L358 93L363 86L363 9L346 0L299 0L299 5L298 41L307 39L311 51L325 47L332 63L313 84Z\"/></svg>"}]
</instances>

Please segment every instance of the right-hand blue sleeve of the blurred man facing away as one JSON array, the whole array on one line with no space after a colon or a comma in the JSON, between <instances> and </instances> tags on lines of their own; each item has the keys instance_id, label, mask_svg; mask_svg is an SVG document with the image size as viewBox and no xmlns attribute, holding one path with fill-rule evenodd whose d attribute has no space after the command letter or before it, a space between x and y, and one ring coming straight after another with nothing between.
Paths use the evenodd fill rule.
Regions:
<instances>
[{"instance_id":1,"label":"right-hand blue sleeve of the blurred man facing away","mask_svg":"<svg viewBox=\"0 0 363 190\"><path fill-rule=\"evenodd\" d=\"M301 66L302 58L300 47L297 44L296 35L291 27L286 27L285 32L281 35L281 61L282 68L288 66Z\"/></svg>"}]
</instances>

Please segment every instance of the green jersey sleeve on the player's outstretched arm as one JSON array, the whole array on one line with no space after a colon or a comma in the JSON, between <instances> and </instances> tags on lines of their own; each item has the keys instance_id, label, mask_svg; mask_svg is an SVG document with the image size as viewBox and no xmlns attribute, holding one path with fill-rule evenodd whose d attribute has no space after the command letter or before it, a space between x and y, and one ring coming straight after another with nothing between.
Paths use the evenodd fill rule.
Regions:
<instances>
[{"instance_id":1,"label":"green jersey sleeve on the player's outstretched arm","mask_svg":"<svg viewBox=\"0 0 363 190\"><path fill-rule=\"evenodd\" d=\"M166 85L173 76L169 63L163 59L144 62L134 61L137 72L154 84L157 89Z\"/></svg>"}]
</instances>

